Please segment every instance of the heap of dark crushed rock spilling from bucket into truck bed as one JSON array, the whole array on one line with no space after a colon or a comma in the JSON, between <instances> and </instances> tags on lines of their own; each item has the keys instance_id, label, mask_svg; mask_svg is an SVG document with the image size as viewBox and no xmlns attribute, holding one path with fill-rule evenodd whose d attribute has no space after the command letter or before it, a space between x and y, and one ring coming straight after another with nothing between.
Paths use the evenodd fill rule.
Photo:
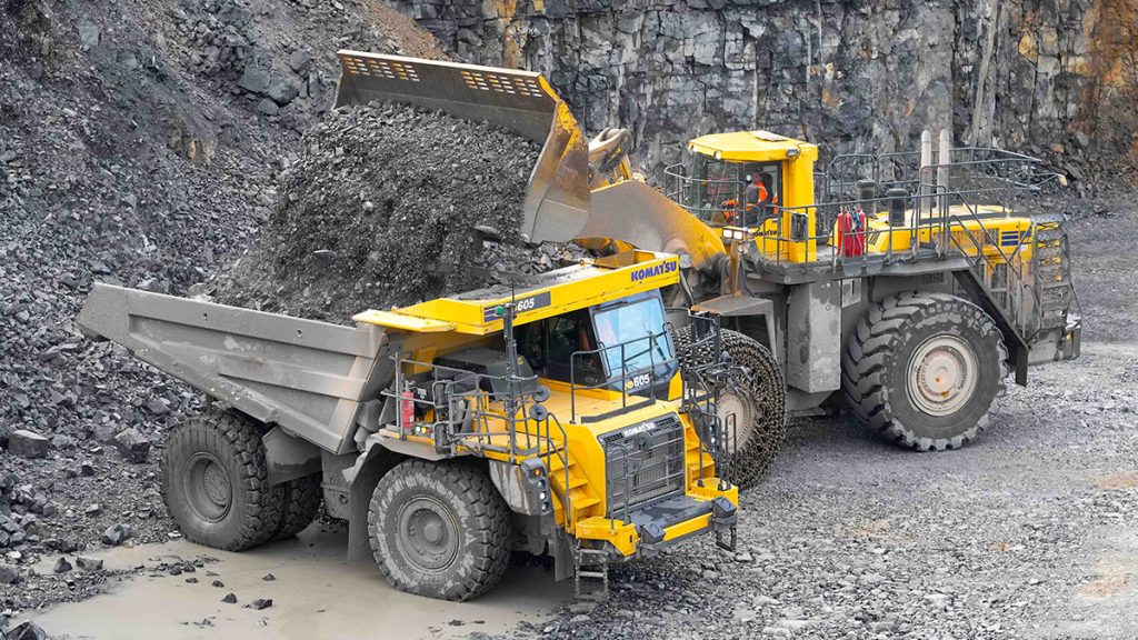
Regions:
<instances>
[{"instance_id":1,"label":"heap of dark crushed rock spilling from bucket into truck bed","mask_svg":"<svg viewBox=\"0 0 1138 640\"><path fill-rule=\"evenodd\" d=\"M579 251L519 243L539 151L505 130L407 105L330 112L305 133L275 211L215 297L346 322L549 271Z\"/></svg>"}]
</instances>

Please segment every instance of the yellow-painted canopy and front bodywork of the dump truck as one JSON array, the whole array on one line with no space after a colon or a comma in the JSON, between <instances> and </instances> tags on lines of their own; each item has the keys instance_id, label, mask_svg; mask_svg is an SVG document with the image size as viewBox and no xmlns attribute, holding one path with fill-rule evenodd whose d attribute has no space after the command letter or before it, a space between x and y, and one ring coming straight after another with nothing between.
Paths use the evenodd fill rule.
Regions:
<instances>
[{"instance_id":1,"label":"yellow-painted canopy and front bodywork of the dump truck","mask_svg":"<svg viewBox=\"0 0 1138 640\"><path fill-rule=\"evenodd\" d=\"M390 311L369 310L354 320L385 327L393 340L403 340L409 353L407 374L423 372L422 364L448 353L479 344L501 344L503 306L516 305L514 326L588 309L605 302L675 285L679 278L678 259L669 254L630 251L596 260L583 260L539 277L536 286L516 292L487 289L455 297L444 297ZM547 282L547 284L545 284ZM530 304L528 301L533 301ZM401 335L406 334L406 338ZM520 358L520 356L519 356ZM527 458L542 460L553 498L554 522L579 541L610 544L622 557L640 549L640 534L632 522L610 514L608 504L607 458L601 436L661 418L676 417L683 429L684 494L698 501L726 498L739 504L739 490L720 483L712 457L702 449L688 416L678 400L655 400L642 408L619 411L633 400L609 388L584 388L567 381L538 378L550 389L542 403L558 418L563 433L549 429L528 416L514 417L509 432L506 409L500 402L483 402L477 409L486 419L476 420L470 444L463 454L518 463ZM667 396L682 396L678 372L668 381ZM589 417L615 413L596 421ZM576 418L576 419L575 419ZM434 452L435 441L427 427L415 433L380 429L388 443L399 440L419 445L424 457ZM527 453L509 452L510 438L523 442ZM414 454L414 453L412 453ZM710 527L709 514L671 523L663 530L662 542L671 542Z\"/></svg>"}]
</instances>

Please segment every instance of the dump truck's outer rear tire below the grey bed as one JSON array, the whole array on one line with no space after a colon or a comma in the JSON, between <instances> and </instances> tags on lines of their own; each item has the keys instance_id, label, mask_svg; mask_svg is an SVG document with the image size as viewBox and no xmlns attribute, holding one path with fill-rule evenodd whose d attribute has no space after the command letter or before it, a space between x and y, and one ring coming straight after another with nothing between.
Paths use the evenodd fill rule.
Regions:
<instances>
[{"instance_id":1,"label":"dump truck's outer rear tire below the grey bed","mask_svg":"<svg viewBox=\"0 0 1138 640\"><path fill-rule=\"evenodd\" d=\"M203 482L196 482L200 469L206 469L200 471ZM209 483L213 491L206 487L207 476L216 479ZM166 438L163 499L182 535L192 542L241 551L272 539L280 530L284 489L269 486L267 477L261 434L238 413L196 416ZM226 491L224 506L209 497L225 500ZM216 512L206 512L211 509Z\"/></svg>"}]
</instances>

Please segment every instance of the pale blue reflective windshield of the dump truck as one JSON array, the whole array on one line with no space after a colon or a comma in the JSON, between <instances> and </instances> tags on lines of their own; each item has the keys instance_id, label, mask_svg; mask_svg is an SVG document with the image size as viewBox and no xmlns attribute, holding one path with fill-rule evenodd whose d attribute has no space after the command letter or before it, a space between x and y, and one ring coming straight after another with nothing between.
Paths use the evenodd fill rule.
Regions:
<instances>
[{"instance_id":1,"label":"pale blue reflective windshield of the dump truck","mask_svg":"<svg viewBox=\"0 0 1138 640\"><path fill-rule=\"evenodd\" d=\"M658 296L599 311L593 317L593 326L596 329L596 339L604 350L604 364L610 379L638 370L646 374L651 371L653 364L659 368L671 359L671 343L668 342L665 327L663 304ZM658 371L657 376L659 375Z\"/></svg>"}]
</instances>

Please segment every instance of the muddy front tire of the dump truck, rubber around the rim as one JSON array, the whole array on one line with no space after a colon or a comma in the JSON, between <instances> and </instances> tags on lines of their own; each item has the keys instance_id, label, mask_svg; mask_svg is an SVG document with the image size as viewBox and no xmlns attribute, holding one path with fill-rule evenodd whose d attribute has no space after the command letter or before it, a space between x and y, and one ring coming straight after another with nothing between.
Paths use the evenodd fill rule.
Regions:
<instances>
[{"instance_id":1,"label":"muddy front tire of the dump truck, rubber around the rim","mask_svg":"<svg viewBox=\"0 0 1138 640\"><path fill-rule=\"evenodd\" d=\"M412 501L431 504L450 525L450 560L417 564L410 536L399 533ZM407 518L424 509L406 514ZM510 559L510 511L484 469L467 462L406 460L387 471L372 493L368 536L387 581L399 591L444 600L469 600L498 583Z\"/></svg>"}]
</instances>

